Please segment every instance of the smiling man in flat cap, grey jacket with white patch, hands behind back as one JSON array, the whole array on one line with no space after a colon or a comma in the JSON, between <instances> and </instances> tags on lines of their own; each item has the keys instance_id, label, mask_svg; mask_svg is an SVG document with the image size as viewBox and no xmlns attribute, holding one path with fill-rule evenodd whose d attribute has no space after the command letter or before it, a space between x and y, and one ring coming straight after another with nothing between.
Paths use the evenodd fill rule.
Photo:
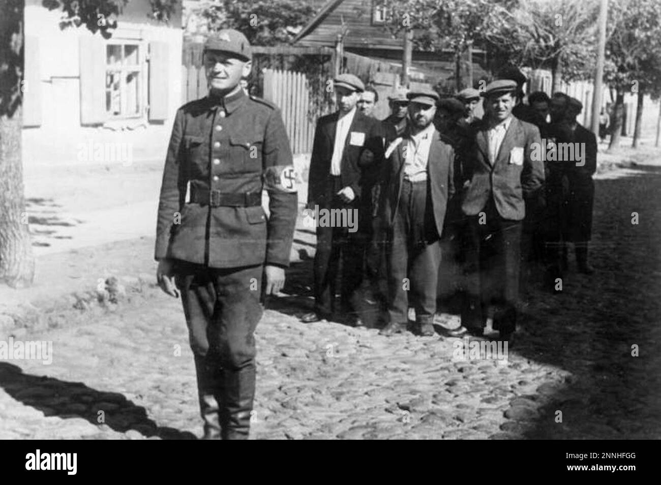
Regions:
<instances>
[{"instance_id":1,"label":"smiling man in flat cap, grey jacket with white patch, hands behind back","mask_svg":"<svg viewBox=\"0 0 661 485\"><path fill-rule=\"evenodd\" d=\"M481 335L488 305L500 303L494 330L510 340L516 329L520 245L525 197L544 181L541 160L531 157L541 143L537 127L512 116L516 82L499 80L486 87L486 117L477 128L470 180L461 209L469 217L471 250L468 252L469 297L461 315L461 328Z\"/></svg>"}]
</instances>

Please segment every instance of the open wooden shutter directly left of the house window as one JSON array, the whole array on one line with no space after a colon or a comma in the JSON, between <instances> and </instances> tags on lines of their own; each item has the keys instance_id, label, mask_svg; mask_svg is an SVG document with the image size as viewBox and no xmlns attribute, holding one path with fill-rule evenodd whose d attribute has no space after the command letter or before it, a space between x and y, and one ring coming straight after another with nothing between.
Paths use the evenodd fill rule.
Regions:
<instances>
[{"instance_id":1,"label":"open wooden shutter directly left of the house window","mask_svg":"<svg viewBox=\"0 0 661 485\"><path fill-rule=\"evenodd\" d=\"M99 35L81 36L81 124L108 119L106 112L106 46Z\"/></svg>"}]
</instances>

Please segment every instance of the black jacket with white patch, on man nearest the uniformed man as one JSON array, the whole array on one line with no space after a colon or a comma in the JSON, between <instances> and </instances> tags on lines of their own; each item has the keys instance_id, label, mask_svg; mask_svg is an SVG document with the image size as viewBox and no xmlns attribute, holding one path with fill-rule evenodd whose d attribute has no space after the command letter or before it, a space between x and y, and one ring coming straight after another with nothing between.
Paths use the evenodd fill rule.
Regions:
<instances>
[{"instance_id":1,"label":"black jacket with white patch, on man nearest the uniformed man","mask_svg":"<svg viewBox=\"0 0 661 485\"><path fill-rule=\"evenodd\" d=\"M308 204L311 205L319 204L323 206L331 202L325 200L325 190L327 177L331 172L338 116L339 112L334 112L322 116L317 122L308 177L307 200ZM362 146L351 144L352 131L364 133L365 139ZM383 141L381 139L380 122L375 118L365 116L356 109L342 153L340 165L342 186L351 187L354 194L356 194L356 198L360 198L364 185L363 170L372 170L375 168L374 165L379 164L382 158Z\"/></svg>"}]
</instances>

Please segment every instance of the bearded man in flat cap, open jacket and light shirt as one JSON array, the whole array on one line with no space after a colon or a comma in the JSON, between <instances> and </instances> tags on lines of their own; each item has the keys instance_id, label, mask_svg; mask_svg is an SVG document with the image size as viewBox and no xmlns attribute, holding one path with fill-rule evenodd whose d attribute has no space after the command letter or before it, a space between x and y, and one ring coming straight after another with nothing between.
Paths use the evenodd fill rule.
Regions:
<instances>
[{"instance_id":1,"label":"bearded man in flat cap, open jacket and light shirt","mask_svg":"<svg viewBox=\"0 0 661 485\"><path fill-rule=\"evenodd\" d=\"M410 124L389 143L383 183L382 219L388 233L389 322L381 334L407 330L408 295L416 332L434 335L441 261L440 237L454 194L454 150L434 127L438 93L408 93Z\"/></svg>"}]
</instances>

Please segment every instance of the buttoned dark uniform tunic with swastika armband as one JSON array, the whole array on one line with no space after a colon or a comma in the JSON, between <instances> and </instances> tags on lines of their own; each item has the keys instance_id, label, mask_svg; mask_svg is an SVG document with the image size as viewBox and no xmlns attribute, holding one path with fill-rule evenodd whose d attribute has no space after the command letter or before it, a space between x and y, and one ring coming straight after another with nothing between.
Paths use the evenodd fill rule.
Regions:
<instances>
[{"instance_id":1,"label":"buttoned dark uniform tunic with swastika armband","mask_svg":"<svg viewBox=\"0 0 661 485\"><path fill-rule=\"evenodd\" d=\"M211 268L288 266L297 214L292 176L292 151L275 106L241 90L185 104L165 160L155 258ZM187 192L261 196L262 188L269 192L268 219L261 205L186 203Z\"/></svg>"}]
</instances>

